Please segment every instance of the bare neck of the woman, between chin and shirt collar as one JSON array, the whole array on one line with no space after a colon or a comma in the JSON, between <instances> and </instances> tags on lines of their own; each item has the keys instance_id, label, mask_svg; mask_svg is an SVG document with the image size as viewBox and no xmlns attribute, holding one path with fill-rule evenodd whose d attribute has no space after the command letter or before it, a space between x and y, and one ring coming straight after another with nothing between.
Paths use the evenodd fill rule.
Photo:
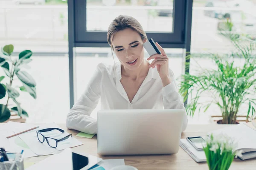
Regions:
<instances>
[{"instance_id":1,"label":"bare neck of the woman, between chin and shirt collar","mask_svg":"<svg viewBox=\"0 0 256 170\"><path fill-rule=\"evenodd\" d=\"M145 59L143 59L143 63L141 63L140 67L133 71L128 70L122 65L121 67L122 77L130 78L133 80L137 80L140 77L146 77L148 75L148 70L149 70L148 66L149 66L149 63L145 61Z\"/></svg>"}]
</instances>

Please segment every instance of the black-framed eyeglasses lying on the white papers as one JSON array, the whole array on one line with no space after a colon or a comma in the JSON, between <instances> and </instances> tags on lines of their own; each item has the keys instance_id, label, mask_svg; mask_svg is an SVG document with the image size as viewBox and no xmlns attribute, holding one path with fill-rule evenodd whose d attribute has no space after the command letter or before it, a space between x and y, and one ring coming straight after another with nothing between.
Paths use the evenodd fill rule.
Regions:
<instances>
[{"instance_id":1,"label":"black-framed eyeglasses lying on the white papers","mask_svg":"<svg viewBox=\"0 0 256 170\"><path fill-rule=\"evenodd\" d=\"M61 142L65 139L68 139L70 136L72 136L72 134L70 133L68 136L65 136L64 138L61 139L54 139L54 138L50 138L50 137L45 137L41 132L49 132L52 130L59 130L60 132L64 132L64 130L59 129L59 128L47 128L47 129L42 129L42 130L38 130L36 131L36 134L38 136L38 140L39 142L43 143L44 140L46 139L47 143L49 144L50 147L57 147L58 146L58 142Z\"/></svg>"}]
</instances>

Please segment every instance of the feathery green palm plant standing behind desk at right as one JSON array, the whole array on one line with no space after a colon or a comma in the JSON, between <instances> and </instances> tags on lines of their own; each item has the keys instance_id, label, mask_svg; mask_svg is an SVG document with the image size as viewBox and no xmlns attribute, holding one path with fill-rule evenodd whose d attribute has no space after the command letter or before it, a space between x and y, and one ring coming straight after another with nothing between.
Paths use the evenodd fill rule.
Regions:
<instances>
[{"instance_id":1,"label":"feathery green palm plant standing behind desk at right","mask_svg":"<svg viewBox=\"0 0 256 170\"><path fill-rule=\"evenodd\" d=\"M217 69L201 69L196 74L182 76L180 94L184 101L189 95L192 96L186 105L189 115L193 116L195 111L200 112L201 108L205 112L210 105L217 105L223 118L218 124L237 124L237 113L242 104L248 106L247 117L255 113L256 55L253 50L256 42L234 34L230 34L229 38L236 49L234 52L209 54ZM241 59L242 66L235 66L234 59L237 57ZM212 100L199 102L206 92Z\"/></svg>"}]
</instances>

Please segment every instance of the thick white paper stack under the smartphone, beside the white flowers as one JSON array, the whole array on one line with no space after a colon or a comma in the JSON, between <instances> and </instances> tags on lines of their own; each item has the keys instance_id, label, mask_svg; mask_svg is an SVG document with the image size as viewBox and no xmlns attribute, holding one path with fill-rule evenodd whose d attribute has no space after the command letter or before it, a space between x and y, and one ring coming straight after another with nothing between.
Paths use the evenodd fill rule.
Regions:
<instances>
[{"instance_id":1,"label":"thick white paper stack under the smartphone, beside the white flowers","mask_svg":"<svg viewBox=\"0 0 256 170\"><path fill-rule=\"evenodd\" d=\"M180 147L186 151L196 162L206 162L204 150L196 150L187 139L180 139Z\"/></svg>"}]
</instances>

